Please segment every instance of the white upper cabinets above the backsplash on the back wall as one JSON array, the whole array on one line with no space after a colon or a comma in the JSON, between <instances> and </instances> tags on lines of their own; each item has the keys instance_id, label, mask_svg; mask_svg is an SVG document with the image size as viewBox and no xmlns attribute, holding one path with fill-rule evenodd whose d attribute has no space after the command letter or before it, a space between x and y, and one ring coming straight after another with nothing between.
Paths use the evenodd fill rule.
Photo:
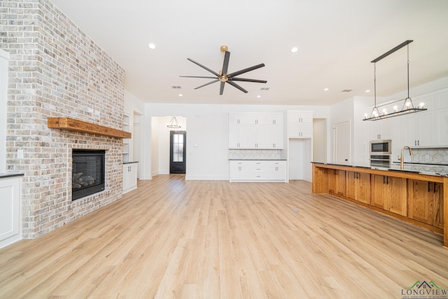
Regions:
<instances>
[{"instance_id":1,"label":"white upper cabinets above the backsplash on the back wall","mask_svg":"<svg viewBox=\"0 0 448 299\"><path fill-rule=\"evenodd\" d=\"M283 149L283 113L229 113L229 148Z\"/></svg>"}]
</instances>

